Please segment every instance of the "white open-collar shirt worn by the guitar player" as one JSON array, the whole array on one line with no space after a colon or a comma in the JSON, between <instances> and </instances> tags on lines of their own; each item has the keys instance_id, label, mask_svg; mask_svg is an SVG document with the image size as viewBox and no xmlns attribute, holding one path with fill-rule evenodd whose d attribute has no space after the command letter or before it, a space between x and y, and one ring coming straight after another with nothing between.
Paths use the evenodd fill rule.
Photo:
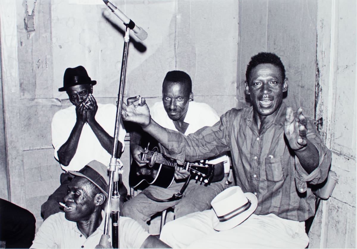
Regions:
<instances>
[{"instance_id":1,"label":"white open-collar shirt worn by the guitar player","mask_svg":"<svg viewBox=\"0 0 357 249\"><path fill-rule=\"evenodd\" d=\"M150 115L151 118L160 126L174 131L178 131L175 127L174 122L171 120L169 115L167 115L167 112L164 108L164 103L162 101L156 102L150 108ZM217 115L217 112L206 103L190 101L188 102L187 113L185 116L185 120L183 121L185 123L188 123L188 127L184 134L187 136L188 134L195 133L202 127L213 126L213 124L217 123L219 120L220 118ZM211 164L216 164L219 162L225 162L225 173L228 173L230 168L230 160L227 155L223 155L221 157L208 161L208 163Z\"/></svg>"}]
</instances>

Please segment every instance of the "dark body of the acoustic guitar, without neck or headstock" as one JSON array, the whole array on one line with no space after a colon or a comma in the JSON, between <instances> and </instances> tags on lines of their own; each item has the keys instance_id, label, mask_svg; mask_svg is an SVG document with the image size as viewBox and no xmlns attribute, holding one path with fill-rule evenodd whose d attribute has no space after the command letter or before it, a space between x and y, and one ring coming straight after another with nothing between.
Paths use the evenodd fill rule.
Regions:
<instances>
[{"instance_id":1,"label":"dark body of the acoustic guitar, without neck or headstock","mask_svg":"<svg viewBox=\"0 0 357 249\"><path fill-rule=\"evenodd\" d=\"M150 143L154 144L155 147L147 149L155 154L159 153L159 147L156 146L156 142L151 141ZM170 187L175 178L175 168L156 163L154 156L145 156L147 156L146 159L149 160L149 163L143 167L139 167L134 160L132 161L129 172L129 186L141 190L151 184L162 188Z\"/></svg>"}]
</instances>

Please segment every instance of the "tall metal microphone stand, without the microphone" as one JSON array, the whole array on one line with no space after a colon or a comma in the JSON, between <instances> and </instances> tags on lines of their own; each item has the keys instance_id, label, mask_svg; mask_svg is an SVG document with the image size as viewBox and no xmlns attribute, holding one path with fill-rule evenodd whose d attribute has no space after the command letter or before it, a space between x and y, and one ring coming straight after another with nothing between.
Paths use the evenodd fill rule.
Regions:
<instances>
[{"instance_id":1,"label":"tall metal microphone stand, without the microphone","mask_svg":"<svg viewBox=\"0 0 357 249\"><path fill-rule=\"evenodd\" d=\"M119 124L121 118L121 102L123 98L123 90L124 90L124 82L125 82L125 68L126 68L126 60L127 60L127 52L128 52L128 45L129 45L129 33L130 28L126 26L125 36L124 36L124 49L123 49L123 57L121 63L121 72L120 72L120 84L119 84L119 93L118 93L118 101L116 104L116 118L115 118L115 130L114 130L114 139L113 139L113 149L112 155L110 158L109 163L109 186L108 186L108 198L106 204L106 211L105 211L105 222L104 222L104 233L100 238L99 244L95 248L113 248L110 244L110 235L109 235L109 223L110 223L110 214L111 214L111 195L113 192L113 183L114 183L114 174L116 171L118 173L122 173L119 169L122 167L120 165L120 161L116 158L116 150L117 150L117 143L118 143L118 134L119 134ZM120 167L121 166L121 167ZM118 174L119 176L119 174ZM116 184L119 184L116 183ZM119 218L118 218L119 222ZM113 244L118 245L119 248L119 226L117 231L117 238L113 238L113 240L118 240L113 242ZM116 236L115 236L116 237Z\"/></svg>"}]
</instances>

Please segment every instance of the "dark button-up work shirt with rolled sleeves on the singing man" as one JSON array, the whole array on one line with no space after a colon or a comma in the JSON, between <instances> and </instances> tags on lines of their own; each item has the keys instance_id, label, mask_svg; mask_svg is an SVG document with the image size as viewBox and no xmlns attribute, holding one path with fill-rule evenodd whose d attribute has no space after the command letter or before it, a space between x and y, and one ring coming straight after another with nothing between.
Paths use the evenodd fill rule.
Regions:
<instances>
[{"instance_id":1,"label":"dark button-up work shirt with rolled sleeves on the singing man","mask_svg":"<svg viewBox=\"0 0 357 249\"><path fill-rule=\"evenodd\" d=\"M321 141L312 120L307 119L307 139L319 153L318 167L308 174L284 138L286 105L260 133L253 124L253 108L233 108L214 126L203 127L187 137L167 129L165 153L183 161L196 161L231 151L236 183L243 192L256 194L255 214L276 214L304 221L315 213L315 197L307 183L323 182L331 164L331 151Z\"/></svg>"}]
</instances>

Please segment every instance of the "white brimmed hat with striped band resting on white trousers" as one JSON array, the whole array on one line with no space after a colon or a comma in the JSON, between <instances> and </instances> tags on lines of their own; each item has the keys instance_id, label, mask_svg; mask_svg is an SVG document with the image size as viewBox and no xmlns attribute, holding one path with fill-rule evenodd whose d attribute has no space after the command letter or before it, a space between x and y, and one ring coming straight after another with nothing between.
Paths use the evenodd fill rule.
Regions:
<instances>
[{"instance_id":1,"label":"white brimmed hat with striped band resting on white trousers","mask_svg":"<svg viewBox=\"0 0 357 249\"><path fill-rule=\"evenodd\" d=\"M243 193L241 187L233 186L219 193L211 205L216 213L213 228L224 231L236 227L254 213L258 199L253 193Z\"/></svg>"}]
</instances>

